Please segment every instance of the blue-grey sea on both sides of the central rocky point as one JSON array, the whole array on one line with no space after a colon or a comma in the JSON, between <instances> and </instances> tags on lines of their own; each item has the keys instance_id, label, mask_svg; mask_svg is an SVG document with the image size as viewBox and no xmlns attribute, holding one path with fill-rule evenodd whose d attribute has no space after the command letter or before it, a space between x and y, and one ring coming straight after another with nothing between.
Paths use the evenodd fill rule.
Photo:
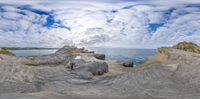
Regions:
<instances>
[{"instance_id":1,"label":"blue-grey sea on both sides of the central rocky point","mask_svg":"<svg viewBox=\"0 0 200 99\"><path fill-rule=\"evenodd\" d=\"M91 47L90 50L94 50L96 53L102 53L106 55L107 60L119 60L127 61L132 60L134 66L142 64L146 59L156 54L156 49L133 49L133 48L97 48ZM39 49L39 50L12 50L16 56L37 56L48 55L56 52L56 49Z\"/></svg>"}]
</instances>

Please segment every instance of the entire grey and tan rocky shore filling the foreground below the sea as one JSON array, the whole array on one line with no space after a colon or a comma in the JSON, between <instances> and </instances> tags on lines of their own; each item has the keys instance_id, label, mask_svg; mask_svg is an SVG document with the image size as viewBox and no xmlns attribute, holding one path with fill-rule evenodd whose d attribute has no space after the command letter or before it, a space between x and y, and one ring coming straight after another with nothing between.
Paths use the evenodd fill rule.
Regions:
<instances>
[{"instance_id":1,"label":"entire grey and tan rocky shore filling the foreground below the sea","mask_svg":"<svg viewBox=\"0 0 200 99\"><path fill-rule=\"evenodd\" d=\"M183 49L159 48L137 68L73 46L45 56L0 54L0 99L198 99L200 54Z\"/></svg>"}]
</instances>

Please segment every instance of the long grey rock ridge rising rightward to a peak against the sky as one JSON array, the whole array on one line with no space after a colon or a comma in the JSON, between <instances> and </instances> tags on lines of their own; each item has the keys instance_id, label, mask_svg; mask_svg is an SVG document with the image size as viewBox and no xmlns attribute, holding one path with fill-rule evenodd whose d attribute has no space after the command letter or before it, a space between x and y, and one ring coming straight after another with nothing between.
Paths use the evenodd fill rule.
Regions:
<instances>
[{"instance_id":1,"label":"long grey rock ridge rising rightward to a peak against the sky","mask_svg":"<svg viewBox=\"0 0 200 99\"><path fill-rule=\"evenodd\" d=\"M50 55L27 57L27 60L24 60L22 63L30 66L66 65L69 61L80 56L81 51L82 49L74 46L64 46L56 53Z\"/></svg>"}]
</instances>

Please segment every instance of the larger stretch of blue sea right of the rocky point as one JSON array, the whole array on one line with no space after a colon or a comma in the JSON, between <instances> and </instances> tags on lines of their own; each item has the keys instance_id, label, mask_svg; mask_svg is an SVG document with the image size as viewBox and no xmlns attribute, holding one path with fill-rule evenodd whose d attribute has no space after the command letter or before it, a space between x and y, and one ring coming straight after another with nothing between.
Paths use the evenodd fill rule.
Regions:
<instances>
[{"instance_id":1,"label":"larger stretch of blue sea right of the rocky point","mask_svg":"<svg viewBox=\"0 0 200 99\"><path fill-rule=\"evenodd\" d=\"M156 49L133 49L133 48L90 48L97 53L106 55L106 59L132 60L134 66L138 66L156 54Z\"/></svg>"}]
</instances>

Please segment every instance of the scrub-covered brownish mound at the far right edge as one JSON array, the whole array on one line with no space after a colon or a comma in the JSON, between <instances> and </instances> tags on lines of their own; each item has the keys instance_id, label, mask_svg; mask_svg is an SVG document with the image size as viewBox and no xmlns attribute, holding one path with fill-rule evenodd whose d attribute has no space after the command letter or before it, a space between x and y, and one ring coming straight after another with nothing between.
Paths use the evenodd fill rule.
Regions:
<instances>
[{"instance_id":1,"label":"scrub-covered brownish mound at the far right edge","mask_svg":"<svg viewBox=\"0 0 200 99\"><path fill-rule=\"evenodd\" d=\"M200 46L192 42L180 42L173 48L200 54Z\"/></svg>"}]
</instances>

